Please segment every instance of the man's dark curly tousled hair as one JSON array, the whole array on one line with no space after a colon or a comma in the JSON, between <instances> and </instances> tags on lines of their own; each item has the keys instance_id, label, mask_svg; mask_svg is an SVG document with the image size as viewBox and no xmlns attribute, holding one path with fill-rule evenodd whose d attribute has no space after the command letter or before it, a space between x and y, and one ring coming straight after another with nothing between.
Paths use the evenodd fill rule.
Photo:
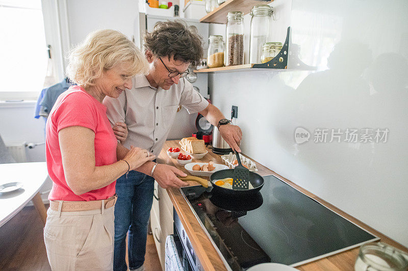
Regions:
<instances>
[{"instance_id":1,"label":"man's dark curly tousled hair","mask_svg":"<svg viewBox=\"0 0 408 271\"><path fill-rule=\"evenodd\" d=\"M144 35L144 46L159 57L174 57L176 61L197 66L202 59L202 38L189 30L183 20L156 23L151 33Z\"/></svg>"}]
</instances>

